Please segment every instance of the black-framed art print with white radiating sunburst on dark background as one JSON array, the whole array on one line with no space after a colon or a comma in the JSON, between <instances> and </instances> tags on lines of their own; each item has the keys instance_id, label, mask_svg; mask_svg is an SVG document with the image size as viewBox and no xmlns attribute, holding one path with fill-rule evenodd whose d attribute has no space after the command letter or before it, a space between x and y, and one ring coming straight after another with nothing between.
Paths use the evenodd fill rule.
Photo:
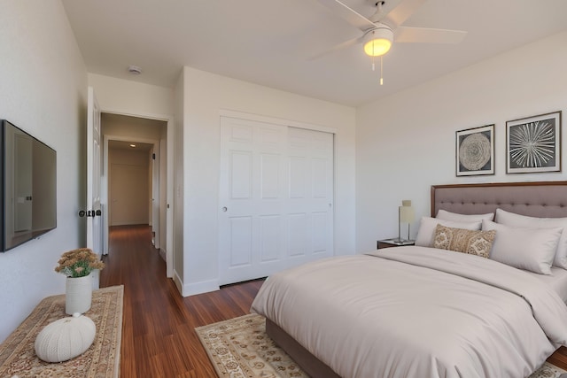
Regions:
<instances>
[{"instance_id":1,"label":"black-framed art print with white radiating sunburst on dark background","mask_svg":"<svg viewBox=\"0 0 567 378\"><path fill-rule=\"evenodd\" d=\"M561 111L506 122L506 173L561 172Z\"/></svg>"}]
</instances>

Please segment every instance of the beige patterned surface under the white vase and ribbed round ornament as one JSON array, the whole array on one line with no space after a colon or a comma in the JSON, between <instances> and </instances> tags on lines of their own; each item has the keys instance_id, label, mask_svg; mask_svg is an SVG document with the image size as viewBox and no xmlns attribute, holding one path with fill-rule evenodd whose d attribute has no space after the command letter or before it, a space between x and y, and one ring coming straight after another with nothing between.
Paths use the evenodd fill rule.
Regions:
<instances>
[{"instance_id":1,"label":"beige patterned surface under the white vase and ribbed round ornament","mask_svg":"<svg viewBox=\"0 0 567 378\"><path fill-rule=\"evenodd\" d=\"M0 345L0 377L118 377L123 286L98 289L85 315L97 326L95 341L82 355L50 364L35 356L35 337L50 322L65 318L65 295L46 297Z\"/></svg>"}]
</instances>

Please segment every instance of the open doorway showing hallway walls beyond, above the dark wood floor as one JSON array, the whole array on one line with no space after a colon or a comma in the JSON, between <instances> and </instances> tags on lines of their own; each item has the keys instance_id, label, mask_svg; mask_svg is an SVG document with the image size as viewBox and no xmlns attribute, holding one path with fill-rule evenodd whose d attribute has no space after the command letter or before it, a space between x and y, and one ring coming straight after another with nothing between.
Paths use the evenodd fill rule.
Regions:
<instances>
[{"instance_id":1,"label":"open doorway showing hallway walls beyond, above the dark wood floor","mask_svg":"<svg viewBox=\"0 0 567 378\"><path fill-rule=\"evenodd\" d=\"M166 259L167 121L103 112L101 130L105 251L110 227L148 225Z\"/></svg>"}]
</instances>

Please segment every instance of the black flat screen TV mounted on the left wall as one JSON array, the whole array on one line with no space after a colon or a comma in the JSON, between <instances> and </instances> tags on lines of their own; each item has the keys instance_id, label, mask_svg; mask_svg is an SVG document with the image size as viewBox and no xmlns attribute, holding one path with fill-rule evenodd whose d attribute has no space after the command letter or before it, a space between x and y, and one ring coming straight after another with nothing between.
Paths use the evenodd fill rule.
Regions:
<instances>
[{"instance_id":1,"label":"black flat screen TV mounted on the left wall","mask_svg":"<svg viewBox=\"0 0 567 378\"><path fill-rule=\"evenodd\" d=\"M57 153L7 120L0 146L0 251L57 227Z\"/></svg>"}]
</instances>

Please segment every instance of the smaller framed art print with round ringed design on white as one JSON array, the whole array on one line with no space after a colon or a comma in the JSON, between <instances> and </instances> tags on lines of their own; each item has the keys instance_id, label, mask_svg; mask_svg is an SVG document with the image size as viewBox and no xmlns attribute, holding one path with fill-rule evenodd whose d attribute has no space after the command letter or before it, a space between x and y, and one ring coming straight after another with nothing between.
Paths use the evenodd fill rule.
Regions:
<instances>
[{"instance_id":1,"label":"smaller framed art print with round ringed design on white","mask_svg":"<svg viewBox=\"0 0 567 378\"><path fill-rule=\"evenodd\" d=\"M494 174L494 125L456 132L456 174Z\"/></svg>"}]
</instances>

